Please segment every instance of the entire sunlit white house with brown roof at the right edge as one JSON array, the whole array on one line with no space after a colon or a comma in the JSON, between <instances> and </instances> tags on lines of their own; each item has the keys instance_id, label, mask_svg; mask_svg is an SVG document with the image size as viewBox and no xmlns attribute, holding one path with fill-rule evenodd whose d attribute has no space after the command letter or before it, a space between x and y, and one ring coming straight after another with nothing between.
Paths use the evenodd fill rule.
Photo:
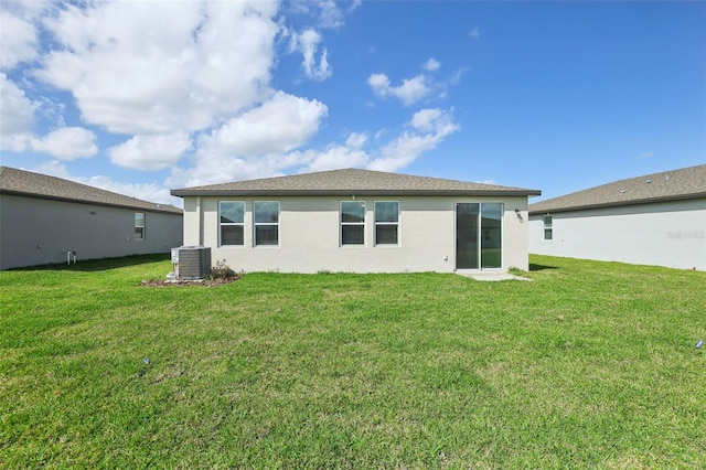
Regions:
<instances>
[{"instance_id":1,"label":"entire sunlit white house with brown roof at the right edge","mask_svg":"<svg viewBox=\"0 0 706 470\"><path fill-rule=\"evenodd\" d=\"M530 252L706 269L706 164L530 205Z\"/></svg>"}]
</instances>

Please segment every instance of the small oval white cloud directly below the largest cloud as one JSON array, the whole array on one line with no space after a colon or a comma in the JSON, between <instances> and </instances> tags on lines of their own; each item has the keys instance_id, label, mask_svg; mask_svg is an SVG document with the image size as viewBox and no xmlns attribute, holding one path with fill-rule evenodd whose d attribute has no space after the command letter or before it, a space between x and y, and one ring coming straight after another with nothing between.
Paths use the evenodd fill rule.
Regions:
<instances>
[{"instance_id":1,"label":"small oval white cloud directly below the largest cloud","mask_svg":"<svg viewBox=\"0 0 706 470\"><path fill-rule=\"evenodd\" d=\"M161 136L135 136L108 150L110 161L119 167L137 170L161 170L176 164L180 157L191 150L191 138L185 132Z\"/></svg>"}]
</instances>

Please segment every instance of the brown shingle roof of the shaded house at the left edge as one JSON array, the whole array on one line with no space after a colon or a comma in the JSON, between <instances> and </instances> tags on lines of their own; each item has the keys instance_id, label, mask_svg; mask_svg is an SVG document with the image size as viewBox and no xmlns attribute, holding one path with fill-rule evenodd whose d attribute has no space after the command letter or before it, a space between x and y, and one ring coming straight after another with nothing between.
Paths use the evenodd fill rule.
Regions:
<instances>
[{"instance_id":1,"label":"brown shingle roof of the shaded house at the left edge","mask_svg":"<svg viewBox=\"0 0 706 470\"><path fill-rule=\"evenodd\" d=\"M0 167L0 194L183 214L181 209L170 204L147 202L61 178L9 167Z\"/></svg>"}]
</instances>

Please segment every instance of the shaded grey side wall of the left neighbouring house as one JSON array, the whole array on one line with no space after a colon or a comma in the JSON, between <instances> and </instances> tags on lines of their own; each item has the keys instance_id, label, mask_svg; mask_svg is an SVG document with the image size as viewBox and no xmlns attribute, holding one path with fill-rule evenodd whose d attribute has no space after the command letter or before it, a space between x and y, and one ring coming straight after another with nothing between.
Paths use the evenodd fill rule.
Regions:
<instances>
[{"instance_id":1,"label":"shaded grey side wall of the left neighbouring house","mask_svg":"<svg viewBox=\"0 0 706 470\"><path fill-rule=\"evenodd\" d=\"M145 213L145 239L135 213ZM0 269L168 253L182 243L182 216L145 210L0 195Z\"/></svg>"}]
</instances>

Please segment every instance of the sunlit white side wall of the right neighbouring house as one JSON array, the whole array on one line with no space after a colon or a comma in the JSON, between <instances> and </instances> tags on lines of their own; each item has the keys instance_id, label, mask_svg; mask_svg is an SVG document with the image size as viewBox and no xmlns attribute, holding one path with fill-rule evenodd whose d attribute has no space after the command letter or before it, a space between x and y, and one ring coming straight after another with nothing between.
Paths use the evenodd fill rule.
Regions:
<instances>
[{"instance_id":1,"label":"sunlit white side wall of the right neighbouring house","mask_svg":"<svg viewBox=\"0 0 706 470\"><path fill-rule=\"evenodd\" d=\"M549 213L530 218L530 252L570 258L706 270L706 200Z\"/></svg>"}]
</instances>

